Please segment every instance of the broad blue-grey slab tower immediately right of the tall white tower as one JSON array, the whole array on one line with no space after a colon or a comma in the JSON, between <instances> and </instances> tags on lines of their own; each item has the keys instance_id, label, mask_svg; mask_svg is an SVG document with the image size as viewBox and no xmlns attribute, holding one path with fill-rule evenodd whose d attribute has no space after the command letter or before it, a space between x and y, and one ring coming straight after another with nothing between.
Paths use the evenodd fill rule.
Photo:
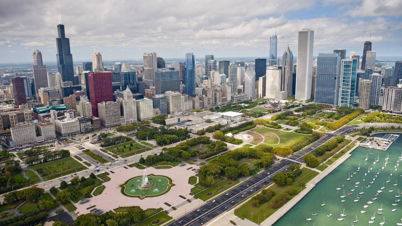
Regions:
<instances>
[{"instance_id":1,"label":"broad blue-grey slab tower immediately right of the tall white tower","mask_svg":"<svg viewBox=\"0 0 402 226\"><path fill-rule=\"evenodd\" d=\"M338 105L340 58L339 53L318 53L316 103Z\"/></svg>"}]
</instances>

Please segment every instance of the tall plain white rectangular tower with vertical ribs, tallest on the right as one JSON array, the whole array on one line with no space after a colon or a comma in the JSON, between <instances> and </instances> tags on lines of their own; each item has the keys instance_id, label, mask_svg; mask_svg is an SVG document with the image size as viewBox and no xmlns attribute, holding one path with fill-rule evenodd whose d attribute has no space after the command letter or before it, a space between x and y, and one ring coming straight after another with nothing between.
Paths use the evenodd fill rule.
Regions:
<instances>
[{"instance_id":1,"label":"tall plain white rectangular tower with vertical ribs, tallest on the right","mask_svg":"<svg viewBox=\"0 0 402 226\"><path fill-rule=\"evenodd\" d=\"M314 31L299 31L295 99L301 101L311 98L313 43Z\"/></svg>"}]
</instances>

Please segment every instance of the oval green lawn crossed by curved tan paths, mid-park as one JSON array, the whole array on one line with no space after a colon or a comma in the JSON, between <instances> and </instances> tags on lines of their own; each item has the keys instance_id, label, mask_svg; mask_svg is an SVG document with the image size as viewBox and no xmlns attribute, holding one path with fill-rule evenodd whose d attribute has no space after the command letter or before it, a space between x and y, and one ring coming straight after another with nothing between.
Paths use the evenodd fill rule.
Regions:
<instances>
[{"instance_id":1,"label":"oval green lawn crossed by curved tan paths, mid-park","mask_svg":"<svg viewBox=\"0 0 402 226\"><path fill-rule=\"evenodd\" d=\"M287 146L300 138L308 136L306 134L296 134L269 128L250 129L247 134L253 137L253 141L250 144L263 142L273 147Z\"/></svg>"}]
</instances>

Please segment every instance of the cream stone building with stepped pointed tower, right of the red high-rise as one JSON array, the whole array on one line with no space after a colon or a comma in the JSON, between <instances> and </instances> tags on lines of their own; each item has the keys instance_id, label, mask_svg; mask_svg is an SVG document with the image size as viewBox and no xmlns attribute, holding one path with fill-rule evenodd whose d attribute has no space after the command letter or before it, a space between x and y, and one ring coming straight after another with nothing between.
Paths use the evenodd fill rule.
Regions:
<instances>
[{"instance_id":1,"label":"cream stone building with stepped pointed tower, right of the red high-rise","mask_svg":"<svg viewBox=\"0 0 402 226\"><path fill-rule=\"evenodd\" d=\"M128 86L126 90L123 91L123 99L119 98L117 102L120 103L121 125L129 125L133 122L137 122L137 107L133 93Z\"/></svg>"}]
</instances>

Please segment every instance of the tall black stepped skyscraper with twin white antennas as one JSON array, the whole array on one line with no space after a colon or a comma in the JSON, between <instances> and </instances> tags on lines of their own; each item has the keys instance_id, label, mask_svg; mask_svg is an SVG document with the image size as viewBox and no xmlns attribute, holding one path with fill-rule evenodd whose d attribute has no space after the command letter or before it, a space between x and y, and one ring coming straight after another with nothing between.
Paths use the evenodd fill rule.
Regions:
<instances>
[{"instance_id":1,"label":"tall black stepped skyscraper with twin white antennas","mask_svg":"<svg viewBox=\"0 0 402 226\"><path fill-rule=\"evenodd\" d=\"M56 38L57 70L62 75L63 82L70 81L73 82L74 84L75 80L74 80L74 68L73 68L73 55L70 52L70 39L66 38L61 15L59 15L57 34L58 34L58 38Z\"/></svg>"}]
</instances>

